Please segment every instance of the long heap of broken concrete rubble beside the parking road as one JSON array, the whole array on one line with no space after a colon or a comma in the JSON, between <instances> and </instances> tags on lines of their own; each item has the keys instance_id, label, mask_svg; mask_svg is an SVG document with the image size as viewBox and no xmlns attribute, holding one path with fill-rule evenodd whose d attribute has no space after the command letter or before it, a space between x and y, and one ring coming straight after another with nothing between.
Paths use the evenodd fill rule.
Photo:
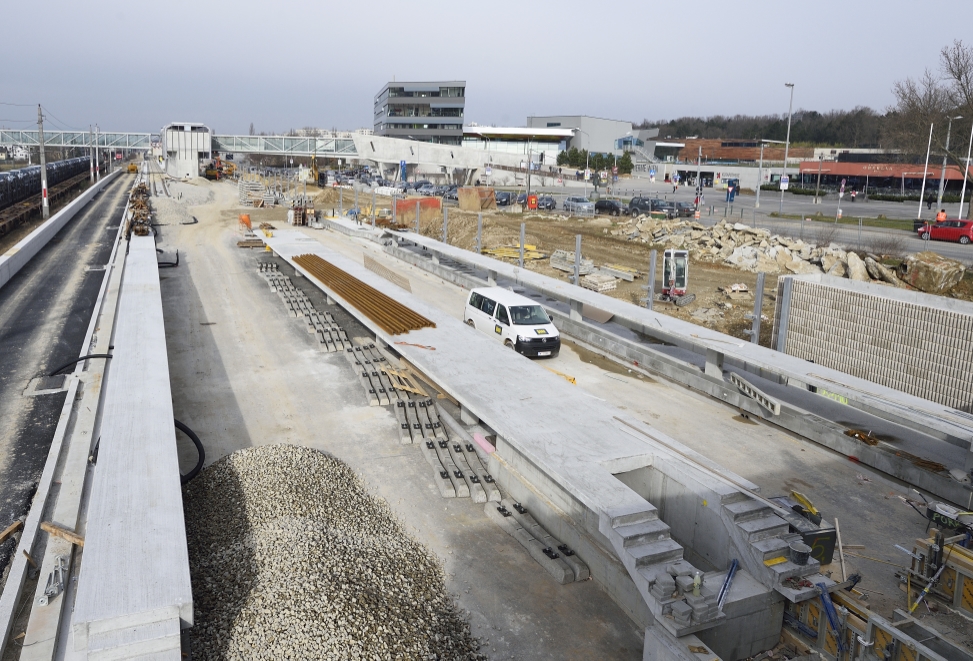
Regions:
<instances>
[{"instance_id":1,"label":"long heap of broken concrete rubble beside the parking road","mask_svg":"<svg viewBox=\"0 0 973 661\"><path fill-rule=\"evenodd\" d=\"M611 234L629 241L681 248L688 250L695 259L729 264L756 273L824 273L895 287L908 284L932 293L948 291L963 277L960 262L935 253L910 255L896 271L873 257L863 260L858 254L834 243L815 246L801 239L771 234L768 230L726 219L706 227L694 220L664 220L642 215L620 220Z\"/></svg>"}]
</instances>

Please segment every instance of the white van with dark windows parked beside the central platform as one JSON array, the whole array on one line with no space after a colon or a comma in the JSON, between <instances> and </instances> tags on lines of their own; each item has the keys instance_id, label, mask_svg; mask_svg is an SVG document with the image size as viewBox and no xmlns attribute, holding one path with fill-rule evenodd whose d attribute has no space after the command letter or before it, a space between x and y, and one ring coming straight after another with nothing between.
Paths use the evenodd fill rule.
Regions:
<instances>
[{"instance_id":1,"label":"white van with dark windows parked beside the central platform","mask_svg":"<svg viewBox=\"0 0 973 661\"><path fill-rule=\"evenodd\" d=\"M561 350L561 334L544 308L508 289L472 290L463 318L468 325L525 356L554 357Z\"/></svg>"}]
</instances>

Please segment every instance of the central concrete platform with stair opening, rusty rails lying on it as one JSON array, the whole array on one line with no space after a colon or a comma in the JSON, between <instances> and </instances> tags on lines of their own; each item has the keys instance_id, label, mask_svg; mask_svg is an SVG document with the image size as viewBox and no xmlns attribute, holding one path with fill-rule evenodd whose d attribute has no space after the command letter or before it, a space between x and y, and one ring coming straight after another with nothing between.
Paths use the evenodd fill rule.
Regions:
<instances>
[{"instance_id":1,"label":"central concrete platform with stair opening, rusty rails lying on it","mask_svg":"<svg viewBox=\"0 0 973 661\"><path fill-rule=\"evenodd\" d=\"M652 591L655 583L665 583L659 577L669 572L676 561L680 561L683 574L697 571L693 564L682 559L687 544L691 547L687 555L710 565L698 570L701 574L726 569L730 557L742 558L741 571L752 573L768 595L786 576L816 571L816 563L800 568L789 562L771 570L763 565L764 556L758 557L750 549L758 539L744 525L751 522L736 521L725 509L729 504L755 497L758 488L747 480L588 395L459 319L403 292L363 264L326 248L302 232L276 231L265 241L310 282L358 317L380 342L401 354L454 397L465 412L464 418L479 419L496 432L496 452L489 459L491 473L508 490L512 481L530 485L539 496L539 505L556 512L575 529L572 537L585 538L581 544L572 539L572 546L579 549L592 575L609 593L616 598L626 591L631 594L630 588L612 583L624 580L631 585L634 582L637 594L648 606L642 607L646 619L643 624L662 627L677 637L724 624L725 616L715 608L690 609L693 613L688 616L682 613L687 598L683 592L673 595L672 589ZM385 332L338 292L302 269L300 262L304 260L295 259L302 255L316 255L330 262L430 319L436 326L399 335ZM695 531L691 520L680 521L678 525L676 521L660 521L657 504L616 477L639 471L648 471L644 479L635 480L637 485L643 482L648 485L643 489L646 494L655 477L671 473L675 478L672 486L655 493L660 499L668 500L666 508L677 518L680 512L699 515L700 511L708 511L707 516L700 515L706 532ZM763 507L761 516L767 524L760 528L763 532L759 539L778 534L781 527L786 530L786 525L781 526L783 522L774 517L772 508ZM564 527L563 521L555 521L553 525L548 521L541 523L552 534L566 538L556 532ZM670 525L674 526L672 536ZM679 536L675 529L681 531ZM698 548L692 548L693 545ZM590 554L599 557L592 558ZM712 582L706 585L709 590L718 588ZM682 606L673 611L674 604ZM636 613L639 609L629 605L627 610ZM679 617L673 618L671 613L677 611ZM764 635L768 626L779 630L780 618L775 619L773 613L756 612L752 616L763 626L754 623L750 629ZM767 617L771 619L765 622ZM748 629L746 623L736 624ZM750 646L743 647L751 653L760 651L753 647L760 643L749 642Z\"/></svg>"}]
</instances>

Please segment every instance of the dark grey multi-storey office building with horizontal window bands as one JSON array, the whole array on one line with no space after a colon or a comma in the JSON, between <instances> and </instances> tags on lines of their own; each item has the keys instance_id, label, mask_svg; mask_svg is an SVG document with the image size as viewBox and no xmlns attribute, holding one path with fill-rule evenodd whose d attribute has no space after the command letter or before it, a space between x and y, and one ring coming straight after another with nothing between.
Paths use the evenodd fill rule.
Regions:
<instances>
[{"instance_id":1,"label":"dark grey multi-storey office building with horizontal window bands","mask_svg":"<svg viewBox=\"0 0 973 661\"><path fill-rule=\"evenodd\" d=\"M391 82L375 95L375 135L461 145L466 81Z\"/></svg>"}]
</instances>

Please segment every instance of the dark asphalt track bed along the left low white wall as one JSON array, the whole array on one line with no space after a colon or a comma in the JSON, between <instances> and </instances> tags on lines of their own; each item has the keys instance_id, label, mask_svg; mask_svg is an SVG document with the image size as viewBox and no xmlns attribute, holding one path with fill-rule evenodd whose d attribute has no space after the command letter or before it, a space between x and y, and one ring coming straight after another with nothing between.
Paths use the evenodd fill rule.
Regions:
<instances>
[{"instance_id":1,"label":"dark asphalt track bed along the left low white wall","mask_svg":"<svg viewBox=\"0 0 973 661\"><path fill-rule=\"evenodd\" d=\"M29 508L64 404L24 392L80 355L130 185L108 184L0 289L0 530ZM0 545L0 573L15 548Z\"/></svg>"}]
</instances>

